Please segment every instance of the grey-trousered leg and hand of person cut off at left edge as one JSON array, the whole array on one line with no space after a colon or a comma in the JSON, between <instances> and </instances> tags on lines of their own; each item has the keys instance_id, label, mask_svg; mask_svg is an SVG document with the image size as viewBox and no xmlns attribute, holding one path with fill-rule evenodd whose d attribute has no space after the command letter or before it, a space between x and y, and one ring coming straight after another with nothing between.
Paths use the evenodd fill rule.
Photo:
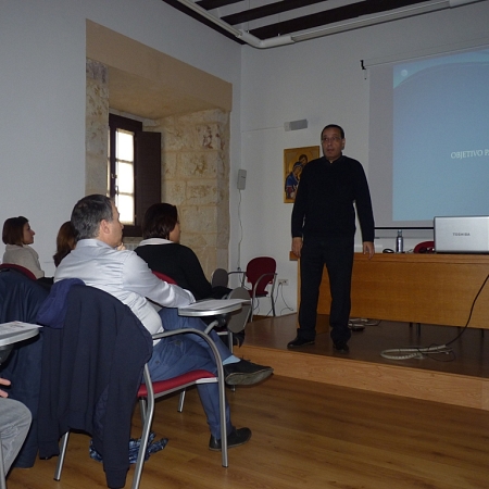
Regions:
<instances>
[{"instance_id":1,"label":"grey-trousered leg and hand of person cut off at left edge","mask_svg":"<svg viewBox=\"0 0 489 489\"><path fill-rule=\"evenodd\" d=\"M10 386L10 380L0 378L0 385ZM8 396L4 390L0 389L0 398L7 398ZM0 439L5 475L21 451L29 431L30 422L30 411L22 402L13 399L0 399Z\"/></svg>"}]
</instances>

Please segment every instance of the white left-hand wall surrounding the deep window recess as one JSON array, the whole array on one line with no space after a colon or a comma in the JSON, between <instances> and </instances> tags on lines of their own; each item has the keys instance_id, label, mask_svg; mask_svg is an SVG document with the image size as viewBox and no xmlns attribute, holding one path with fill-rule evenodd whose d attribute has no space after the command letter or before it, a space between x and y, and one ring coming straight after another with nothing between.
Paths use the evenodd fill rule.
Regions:
<instances>
[{"instance_id":1,"label":"white left-hand wall surrounding the deep window recess","mask_svg":"<svg viewBox=\"0 0 489 489\"><path fill-rule=\"evenodd\" d=\"M85 191L86 18L233 83L239 166L239 45L161 0L2 0L0 223L30 221L48 276L58 229Z\"/></svg>"}]
</instances>

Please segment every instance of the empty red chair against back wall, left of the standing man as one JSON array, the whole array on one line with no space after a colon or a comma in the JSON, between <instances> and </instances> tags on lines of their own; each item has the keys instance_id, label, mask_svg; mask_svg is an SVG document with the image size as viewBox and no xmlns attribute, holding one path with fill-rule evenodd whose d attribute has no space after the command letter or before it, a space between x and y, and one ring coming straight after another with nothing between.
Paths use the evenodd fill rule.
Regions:
<instances>
[{"instance_id":1,"label":"empty red chair against back wall, left of the standing man","mask_svg":"<svg viewBox=\"0 0 489 489\"><path fill-rule=\"evenodd\" d=\"M255 299L268 297L266 287L272 285L269 291L269 300L272 302L272 314L275 316L275 280L277 262L271 256L258 256L251 260L247 265L246 272L229 272L230 274L241 274L241 286L244 287L244 283L251 285L251 289L248 289L252 299L254 308ZM251 308L250 321L253 321L253 308Z\"/></svg>"}]
</instances>

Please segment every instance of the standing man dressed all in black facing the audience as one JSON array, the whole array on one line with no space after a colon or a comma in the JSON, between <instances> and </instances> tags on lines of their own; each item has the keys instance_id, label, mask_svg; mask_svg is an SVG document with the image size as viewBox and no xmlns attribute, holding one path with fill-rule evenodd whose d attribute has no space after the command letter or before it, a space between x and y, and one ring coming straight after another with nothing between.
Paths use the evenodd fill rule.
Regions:
<instances>
[{"instance_id":1,"label":"standing man dressed all in black facing the audience","mask_svg":"<svg viewBox=\"0 0 489 489\"><path fill-rule=\"evenodd\" d=\"M363 253L375 253L374 215L365 172L356 160L344 156L344 131L330 124L321 133L323 158L304 167L292 210L292 252L301 259L301 303L297 338L288 348L314 344L317 301L323 268L329 276L333 348L348 353L351 331L351 274L355 211L362 229Z\"/></svg>"}]
</instances>

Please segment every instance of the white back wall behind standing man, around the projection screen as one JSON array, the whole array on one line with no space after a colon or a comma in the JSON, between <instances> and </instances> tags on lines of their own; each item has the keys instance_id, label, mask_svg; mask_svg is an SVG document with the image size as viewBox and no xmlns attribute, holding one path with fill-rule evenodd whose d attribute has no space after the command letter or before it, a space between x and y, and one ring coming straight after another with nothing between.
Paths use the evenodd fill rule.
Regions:
<instances>
[{"instance_id":1,"label":"white back wall behind standing man, around the projection screen","mask_svg":"<svg viewBox=\"0 0 489 489\"><path fill-rule=\"evenodd\" d=\"M274 256L278 276L289 279L284 287L288 305L297 308L297 264L289 261L292 205L283 203L284 149L319 145L322 128L340 124L347 136L344 153L361 161L367 171L368 80L360 60L402 58L413 51L487 38L488 18L489 2L485 1L281 48L243 48L241 164L248 179L241 206L241 266L255 255ZM285 122L302 118L309 121L308 129L284 130ZM393 248L394 243L378 244ZM405 248L413 244L408 241ZM236 256L236 247L233 253ZM278 310L284 308L279 298Z\"/></svg>"}]
</instances>

